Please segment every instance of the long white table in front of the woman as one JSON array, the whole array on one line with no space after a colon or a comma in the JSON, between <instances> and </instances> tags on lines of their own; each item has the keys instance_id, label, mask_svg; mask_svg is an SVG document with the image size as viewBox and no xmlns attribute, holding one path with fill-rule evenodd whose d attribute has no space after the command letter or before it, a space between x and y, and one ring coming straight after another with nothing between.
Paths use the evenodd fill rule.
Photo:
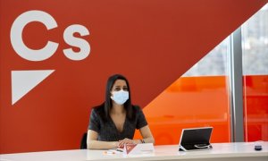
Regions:
<instances>
[{"instance_id":1,"label":"long white table in front of the woman","mask_svg":"<svg viewBox=\"0 0 268 161\"><path fill-rule=\"evenodd\" d=\"M262 145L261 151L255 151L255 144ZM268 161L268 141L214 143L213 149L191 152L178 151L178 145L155 146L150 154L123 156L122 154L105 155L105 150L60 150L32 153L0 155L1 161L81 161L81 160L206 160L206 161Z\"/></svg>"}]
</instances>

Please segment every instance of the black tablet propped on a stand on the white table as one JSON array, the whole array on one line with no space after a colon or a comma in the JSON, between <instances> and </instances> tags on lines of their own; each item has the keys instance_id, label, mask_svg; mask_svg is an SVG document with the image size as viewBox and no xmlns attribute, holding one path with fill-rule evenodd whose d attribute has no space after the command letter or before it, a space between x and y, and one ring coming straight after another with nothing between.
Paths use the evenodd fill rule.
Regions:
<instances>
[{"instance_id":1,"label":"black tablet propped on a stand on the white table","mask_svg":"<svg viewBox=\"0 0 268 161\"><path fill-rule=\"evenodd\" d=\"M182 129L180 135L180 151L202 150L213 148L210 137L213 127Z\"/></svg>"}]
</instances>

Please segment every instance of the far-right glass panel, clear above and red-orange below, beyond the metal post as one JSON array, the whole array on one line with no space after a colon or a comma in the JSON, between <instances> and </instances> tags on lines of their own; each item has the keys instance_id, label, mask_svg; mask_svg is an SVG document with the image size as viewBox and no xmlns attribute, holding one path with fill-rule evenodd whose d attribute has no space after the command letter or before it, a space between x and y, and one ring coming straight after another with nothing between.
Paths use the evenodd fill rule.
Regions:
<instances>
[{"instance_id":1,"label":"far-right glass panel, clear above and red-orange below, beyond the metal post","mask_svg":"<svg viewBox=\"0 0 268 161\"><path fill-rule=\"evenodd\" d=\"M268 140L268 4L242 25L245 140Z\"/></svg>"}]
</instances>

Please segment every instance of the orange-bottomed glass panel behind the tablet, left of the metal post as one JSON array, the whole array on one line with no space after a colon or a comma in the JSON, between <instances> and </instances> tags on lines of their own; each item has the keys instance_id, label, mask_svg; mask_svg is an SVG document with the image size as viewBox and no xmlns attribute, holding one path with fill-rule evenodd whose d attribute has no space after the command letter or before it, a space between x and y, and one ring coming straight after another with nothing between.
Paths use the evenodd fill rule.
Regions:
<instances>
[{"instance_id":1,"label":"orange-bottomed glass panel behind the tablet, left of the metal post","mask_svg":"<svg viewBox=\"0 0 268 161\"><path fill-rule=\"evenodd\" d=\"M212 142L230 141L229 45L227 38L143 109L156 145L178 144L183 128L204 126L214 127Z\"/></svg>"}]
</instances>

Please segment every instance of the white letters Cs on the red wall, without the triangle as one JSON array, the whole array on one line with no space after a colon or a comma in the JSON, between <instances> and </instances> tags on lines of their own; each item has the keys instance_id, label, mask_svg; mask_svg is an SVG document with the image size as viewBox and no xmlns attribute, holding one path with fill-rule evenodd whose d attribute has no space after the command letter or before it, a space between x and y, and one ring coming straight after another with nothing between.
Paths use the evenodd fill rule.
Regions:
<instances>
[{"instance_id":1,"label":"white letters Cs on the red wall, without the triangle","mask_svg":"<svg viewBox=\"0 0 268 161\"><path fill-rule=\"evenodd\" d=\"M22 58L29 61L43 61L54 55L59 44L48 41L46 47L43 47L39 50L30 49L29 47L25 46L22 39L22 31L24 27L32 21L42 22L46 26L47 30L51 30L57 27L57 22L48 13L42 11L29 11L22 13L13 22L10 34L11 43L13 49ZM69 26L63 32L63 39L70 46L79 47L80 51L76 53L71 48L67 48L63 50L63 53L69 59L79 61L88 57L90 53L90 45L85 39L73 37L73 33L75 32L80 33L81 36L89 35L88 29L80 24Z\"/></svg>"}]
</instances>

